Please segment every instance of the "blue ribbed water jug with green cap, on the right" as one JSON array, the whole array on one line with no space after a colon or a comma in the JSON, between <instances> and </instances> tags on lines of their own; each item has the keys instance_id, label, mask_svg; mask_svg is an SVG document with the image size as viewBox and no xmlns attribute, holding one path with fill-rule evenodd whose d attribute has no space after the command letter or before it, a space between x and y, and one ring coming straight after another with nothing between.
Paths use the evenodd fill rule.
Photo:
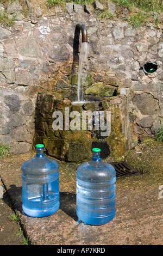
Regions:
<instances>
[{"instance_id":1,"label":"blue ribbed water jug with green cap, on the right","mask_svg":"<svg viewBox=\"0 0 163 256\"><path fill-rule=\"evenodd\" d=\"M92 149L92 159L77 169L77 216L87 224L102 225L115 217L116 172L102 162L101 149Z\"/></svg>"}]
</instances>

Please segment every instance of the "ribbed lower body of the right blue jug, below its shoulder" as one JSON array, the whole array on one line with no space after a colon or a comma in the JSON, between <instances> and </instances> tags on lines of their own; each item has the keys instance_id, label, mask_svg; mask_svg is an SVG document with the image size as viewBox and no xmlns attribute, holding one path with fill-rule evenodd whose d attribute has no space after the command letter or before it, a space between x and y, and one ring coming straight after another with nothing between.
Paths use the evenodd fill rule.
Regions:
<instances>
[{"instance_id":1,"label":"ribbed lower body of the right blue jug, below its shoulder","mask_svg":"<svg viewBox=\"0 0 163 256\"><path fill-rule=\"evenodd\" d=\"M77 215L87 224L110 222L115 216L115 184L77 180Z\"/></svg>"}]
</instances>

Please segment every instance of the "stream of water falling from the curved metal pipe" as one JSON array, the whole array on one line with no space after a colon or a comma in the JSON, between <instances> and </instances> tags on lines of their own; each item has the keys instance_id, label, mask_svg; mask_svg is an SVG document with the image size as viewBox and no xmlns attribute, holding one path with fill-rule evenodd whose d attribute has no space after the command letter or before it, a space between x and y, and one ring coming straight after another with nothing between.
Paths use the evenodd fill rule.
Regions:
<instances>
[{"instance_id":1,"label":"stream of water falling from the curved metal pipe","mask_svg":"<svg viewBox=\"0 0 163 256\"><path fill-rule=\"evenodd\" d=\"M82 69L83 66L87 63L87 55L89 51L88 42L82 42L79 58L79 69L78 69L78 90L77 90L77 101L76 103L83 103L84 100L84 90L82 85Z\"/></svg>"}]
</instances>

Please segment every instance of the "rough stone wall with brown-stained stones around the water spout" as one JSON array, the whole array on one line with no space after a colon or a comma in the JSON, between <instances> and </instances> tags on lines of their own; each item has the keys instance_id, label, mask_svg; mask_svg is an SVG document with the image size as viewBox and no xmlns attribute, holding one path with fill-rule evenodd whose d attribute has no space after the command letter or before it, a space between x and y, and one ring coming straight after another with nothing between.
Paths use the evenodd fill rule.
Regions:
<instances>
[{"instance_id":1,"label":"rough stone wall with brown-stained stones around the water spout","mask_svg":"<svg viewBox=\"0 0 163 256\"><path fill-rule=\"evenodd\" d=\"M108 141L111 152L123 155L137 142L154 136L160 125L163 117L160 29L152 24L135 29L118 19L98 20L95 13L71 3L66 13L59 11L57 15L33 20L20 17L12 29L0 27L0 139L10 145L14 154L28 152L33 142L54 143L49 113L57 108L57 102L64 106L70 101L68 106L72 109L77 95L78 54L73 48L77 23L85 24L89 40L89 62L83 76L87 98L96 102L96 109L110 109L114 121L118 120L118 130L114 132L113 122ZM80 47L81 43L79 50ZM146 74L141 69L146 62L155 62L157 70ZM53 102L48 102L49 98ZM49 113L46 106L51 108ZM86 110L84 106L82 109ZM82 137L72 136L70 140L69 135L65 136L55 134L61 151L51 153L54 147L47 146L50 155L70 157L71 143L83 143L86 148L87 138L90 142L95 139L88 133L84 135L85 142Z\"/></svg>"}]
</instances>

